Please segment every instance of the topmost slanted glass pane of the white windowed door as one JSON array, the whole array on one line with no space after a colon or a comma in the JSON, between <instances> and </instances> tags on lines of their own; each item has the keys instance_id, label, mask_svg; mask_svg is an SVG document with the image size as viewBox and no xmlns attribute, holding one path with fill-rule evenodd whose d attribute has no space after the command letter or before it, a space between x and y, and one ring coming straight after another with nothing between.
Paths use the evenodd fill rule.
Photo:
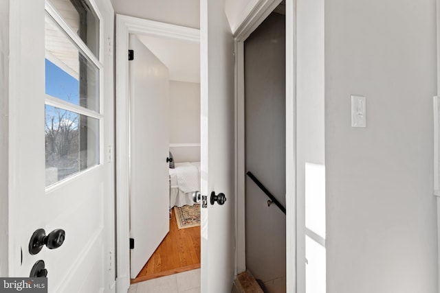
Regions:
<instances>
[{"instance_id":1,"label":"topmost slanted glass pane of the white windowed door","mask_svg":"<svg viewBox=\"0 0 440 293\"><path fill-rule=\"evenodd\" d=\"M99 19L87 0L50 0L65 22L99 58Z\"/></svg>"}]
</instances>

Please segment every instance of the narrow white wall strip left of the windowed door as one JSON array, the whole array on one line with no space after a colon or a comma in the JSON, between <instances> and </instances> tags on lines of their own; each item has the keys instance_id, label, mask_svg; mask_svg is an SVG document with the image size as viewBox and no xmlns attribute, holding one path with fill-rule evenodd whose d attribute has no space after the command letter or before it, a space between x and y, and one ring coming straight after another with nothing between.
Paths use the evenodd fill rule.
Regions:
<instances>
[{"instance_id":1,"label":"narrow white wall strip left of the windowed door","mask_svg":"<svg viewBox=\"0 0 440 293\"><path fill-rule=\"evenodd\" d=\"M0 277L8 272L9 0L0 0Z\"/></svg>"}]
</instances>

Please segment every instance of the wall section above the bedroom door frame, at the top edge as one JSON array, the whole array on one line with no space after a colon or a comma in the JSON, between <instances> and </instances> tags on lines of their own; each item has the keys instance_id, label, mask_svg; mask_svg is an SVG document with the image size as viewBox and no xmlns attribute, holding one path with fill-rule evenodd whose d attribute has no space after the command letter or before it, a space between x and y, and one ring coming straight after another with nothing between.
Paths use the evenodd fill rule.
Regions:
<instances>
[{"instance_id":1,"label":"wall section above the bedroom door frame, at the top edge","mask_svg":"<svg viewBox=\"0 0 440 293\"><path fill-rule=\"evenodd\" d=\"M113 0L112 2L116 14L197 29L200 27L200 0Z\"/></svg>"}]
</instances>

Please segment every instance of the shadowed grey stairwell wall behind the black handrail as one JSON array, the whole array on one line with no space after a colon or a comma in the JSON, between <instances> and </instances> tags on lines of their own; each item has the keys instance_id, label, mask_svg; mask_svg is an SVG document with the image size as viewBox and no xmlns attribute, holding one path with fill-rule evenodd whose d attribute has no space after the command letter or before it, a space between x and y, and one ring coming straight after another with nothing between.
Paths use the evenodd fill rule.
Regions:
<instances>
[{"instance_id":1,"label":"shadowed grey stairwell wall behind the black handrail","mask_svg":"<svg viewBox=\"0 0 440 293\"><path fill-rule=\"evenodd\" d=\"M285 207L285 16L272 13L245 40L245 171ZM285 214L245 176L246 268L285 292Z\"/></svg>"}]
</instances>

